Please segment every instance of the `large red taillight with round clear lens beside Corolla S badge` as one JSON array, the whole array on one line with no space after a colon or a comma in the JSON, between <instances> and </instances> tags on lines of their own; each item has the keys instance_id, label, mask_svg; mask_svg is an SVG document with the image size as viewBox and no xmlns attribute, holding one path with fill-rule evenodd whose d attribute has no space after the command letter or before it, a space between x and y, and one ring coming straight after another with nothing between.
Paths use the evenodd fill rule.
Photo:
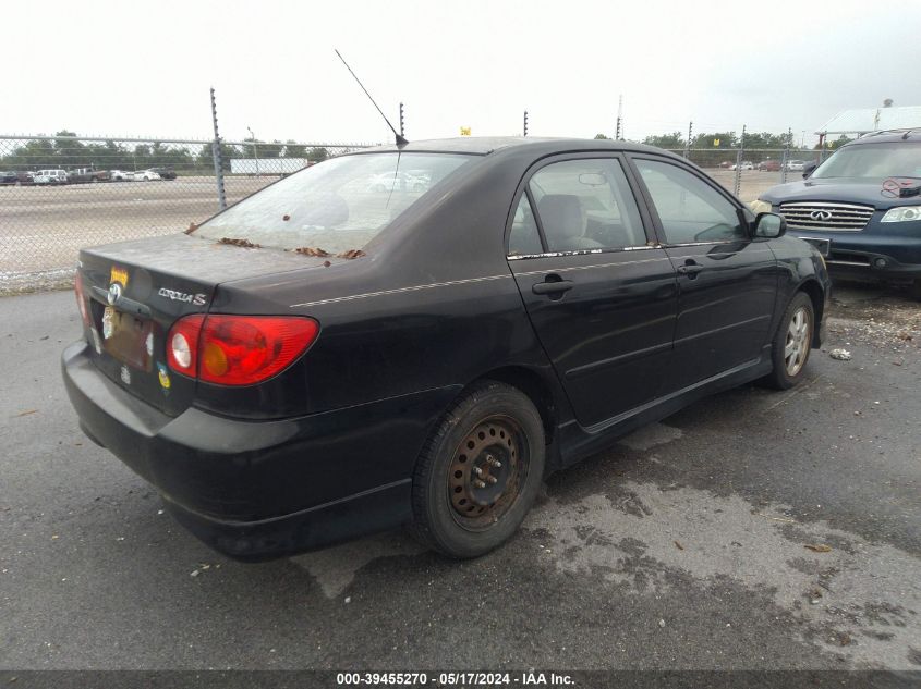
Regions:
<instances>
[{"instance_id":1,"label":"large red taillight with round clear lens beside Corolla S badge","mask_svg":"<svg viewBox=\"0 0 921 689\"><path fill-rule=\"evenodd\" d=\"M318 333L319 323L300 316L196 313L170 329L167 362L208 383L253 385L288 368Z\"/></svg>"}]
</instances>

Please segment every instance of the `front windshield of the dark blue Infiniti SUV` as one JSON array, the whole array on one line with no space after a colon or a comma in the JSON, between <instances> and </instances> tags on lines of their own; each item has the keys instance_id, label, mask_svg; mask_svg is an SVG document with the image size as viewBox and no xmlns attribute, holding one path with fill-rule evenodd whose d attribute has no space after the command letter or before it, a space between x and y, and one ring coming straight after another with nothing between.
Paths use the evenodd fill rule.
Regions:
<instances>
[{"instance_id":1,"label":"front windshield of the dark blue Infiniti SUV","mask_svg":"<svg viewBox=\"0 0 921 689\"><path fill-rule=\"evenodd\" d=\"M921 177L921 144L858 144L836 151L812 173L815 179Z\"/></svg>"}]
</instances>

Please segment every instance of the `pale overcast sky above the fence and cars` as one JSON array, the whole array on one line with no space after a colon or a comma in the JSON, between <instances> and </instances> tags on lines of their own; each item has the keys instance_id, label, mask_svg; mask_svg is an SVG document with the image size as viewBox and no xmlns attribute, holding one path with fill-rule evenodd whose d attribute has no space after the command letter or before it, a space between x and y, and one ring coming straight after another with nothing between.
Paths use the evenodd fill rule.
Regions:
<instances>
[{"instance_id":1,"label":"pale overcast sky above the fence and cars","mask_svg":"<svg viewBox=\"0 0 921 689\"><path fill-rule=\"evenodd\" d=\"M921 106L921 2L3 3L0 133L385 142L796 133L892 98Z\"/></svg>"}]
</instances>

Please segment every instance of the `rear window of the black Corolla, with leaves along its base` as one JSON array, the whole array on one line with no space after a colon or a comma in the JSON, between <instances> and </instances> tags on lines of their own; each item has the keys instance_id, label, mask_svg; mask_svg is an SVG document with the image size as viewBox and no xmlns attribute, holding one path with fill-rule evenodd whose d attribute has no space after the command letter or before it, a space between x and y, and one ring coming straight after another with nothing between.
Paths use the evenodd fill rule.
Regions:
<instances>
[{"instance_id":1,"label":"rear window of the black Corolla, with leaves along its base","mask_svg":"<svg viewBox=\"0 0 921 689\"><path fill-rule=\"evenodd\" d=\"M334 158L243 199L195 234L330 255L353 251L472 159L396 152Z\"/></svg>"}]
</instances>

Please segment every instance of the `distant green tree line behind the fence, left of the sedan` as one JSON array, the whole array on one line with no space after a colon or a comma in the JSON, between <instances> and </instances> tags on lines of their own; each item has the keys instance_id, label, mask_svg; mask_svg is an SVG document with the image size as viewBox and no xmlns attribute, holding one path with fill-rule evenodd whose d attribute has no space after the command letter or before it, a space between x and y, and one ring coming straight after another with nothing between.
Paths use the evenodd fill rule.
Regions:
<instances>
[{"instance_id":1,"label":"distant green tree line behind the fence, left of the sedan","mask_svg":"<svg viewBox=\"0 0 921 689\"><path fill-rule=\"evenodd\" d=\"M210 143L201 146L185 144L119 144L106 142L80 142L76 134L62 130L50 138L28 139L9 153L0 156L0 169L40 170L44 168L94 168L96 170L146 170L170 167L178 172L214 171L214 153ZM66 138L65 138L66 137ZM1 146L2 144L0 144ZM221 161L230 170L232 158L301 158L319 162L329 158L323 147L307 147L288 142L260 142L246 139L245 144L221 144Z\"/></svg>"}]
</instances>

